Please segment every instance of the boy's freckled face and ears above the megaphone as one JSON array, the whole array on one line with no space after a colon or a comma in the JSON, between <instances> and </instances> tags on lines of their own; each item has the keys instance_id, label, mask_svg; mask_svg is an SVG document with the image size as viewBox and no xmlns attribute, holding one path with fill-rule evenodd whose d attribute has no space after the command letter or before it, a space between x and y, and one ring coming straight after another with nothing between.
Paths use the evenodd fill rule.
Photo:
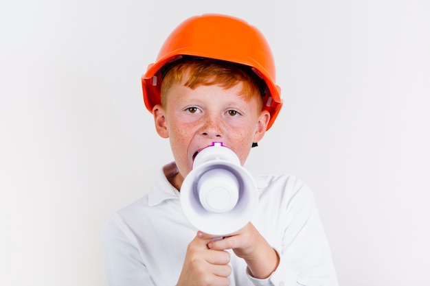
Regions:
<instances>
[{"instance_id":1,"label":"boy's freckled face and ears above the megaphone","mask_svg":"<svg viewBox=\"0 0 430 286\"><path fill-rule=\"evenodd\" d=\"M227 90L201 85L193 90L174 84L166 93L164 108L153 109L157 132L170 138L180 182L191 171L196 152L212 142L223 142L243 165L252 143L264 136L269 112L260 110L260 95L245 99L241 87L241 83Z\"/></svg>"}]
</instances>

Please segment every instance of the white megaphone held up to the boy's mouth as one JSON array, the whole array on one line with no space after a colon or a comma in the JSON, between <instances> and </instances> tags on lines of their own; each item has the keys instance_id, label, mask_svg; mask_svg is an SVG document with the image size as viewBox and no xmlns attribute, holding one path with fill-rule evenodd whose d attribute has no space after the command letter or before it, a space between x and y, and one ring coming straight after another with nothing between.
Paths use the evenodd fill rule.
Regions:
<instances>
[{"instance_id":1,"label":"white megaphone held up to the boy's mouth","mask_svg":"<svg viewBox=\"0 0 430 286\"><path fill-rule=\"evenodd\" d=\"M221 142L201 150L181 186L185 217L210 235L227 236L243 228L258 204L256 183L236 154Z\"/></svg>"}]
</instances>

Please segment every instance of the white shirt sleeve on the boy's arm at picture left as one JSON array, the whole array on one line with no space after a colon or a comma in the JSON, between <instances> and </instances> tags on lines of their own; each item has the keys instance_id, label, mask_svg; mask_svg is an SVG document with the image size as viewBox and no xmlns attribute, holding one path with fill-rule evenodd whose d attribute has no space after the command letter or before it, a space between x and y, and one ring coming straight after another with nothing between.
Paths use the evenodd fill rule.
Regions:
<instances>
[{"instance_id":1,"label":"white shirt sleeve on the boy's arm at picture left","mask_svg":"<svg viewBox=\"0 0 430 286\"><path fill-rule=\"evenodd\" d=\"M104 226L102 246L109 286L155 286L128 231L115 213Z\"/></svg>"}]
</instances>

